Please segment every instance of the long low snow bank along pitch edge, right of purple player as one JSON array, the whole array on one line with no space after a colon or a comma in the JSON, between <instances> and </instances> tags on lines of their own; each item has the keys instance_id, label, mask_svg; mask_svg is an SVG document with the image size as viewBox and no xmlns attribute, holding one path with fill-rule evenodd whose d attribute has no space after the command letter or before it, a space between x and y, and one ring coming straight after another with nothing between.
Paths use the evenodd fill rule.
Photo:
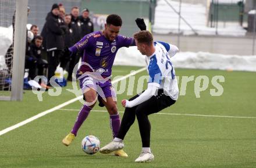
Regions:
<instances>
[{"instance_id":1,"label":"long low snow bank along pitch edge, right of purple player","mask_svg":"<svg viewBox=\"0 0 256 168\"><path fill-rule=\"evenodd\" d=\"M136 47L121 48L114 65L145 66L145 56ZM190 69L241 70L256 72L256 56L222 55L208 52L179 52L172 58L175 67Z\"/></svg>"}]
</instances>

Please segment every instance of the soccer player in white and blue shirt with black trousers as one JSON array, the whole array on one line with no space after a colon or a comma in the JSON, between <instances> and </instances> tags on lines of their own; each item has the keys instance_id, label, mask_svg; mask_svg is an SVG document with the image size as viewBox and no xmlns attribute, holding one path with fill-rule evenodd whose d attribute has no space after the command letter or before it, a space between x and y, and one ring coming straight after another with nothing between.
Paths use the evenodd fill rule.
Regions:
<instances>
[{"instance_id":1,"label":"soccer player in white and blue shirt with black trousers","mask_svg":"<svg viewBox=\"0 0 256 168\"><path fill-rule=\"evenodd\" d=\"M170 61L179 49L166 42L154 42L149 31L140 31L134 34L138 50L145 55L149 74L148 88L142 94L122 100L125 114L118 135L108 145L99 149L101 153L111 153L123 149L123 140L130 126L137 117L140 129L142 151L135 162L150 162L154 155L150 149L151 125L148 115L157 113L173 105L178 98L179 88L175 77L175 70Z\"/></svg>"}]
</instances>

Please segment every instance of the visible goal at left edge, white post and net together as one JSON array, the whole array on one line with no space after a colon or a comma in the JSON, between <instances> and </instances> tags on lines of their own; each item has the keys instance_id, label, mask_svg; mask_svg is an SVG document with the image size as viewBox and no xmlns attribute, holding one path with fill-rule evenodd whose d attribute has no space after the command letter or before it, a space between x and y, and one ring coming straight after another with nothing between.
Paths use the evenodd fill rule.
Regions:
<instances>
[{"instance_id":1,"label":"visible goal at left edge, white post and net together","mask_svg":"<svg viewBox=\"0 0 256 168\"><path fill-rule=\"evenodd\" d=\"M0 0L0 101L23 98L27 5L28 0Z\"/></svg>"}]
</instances>

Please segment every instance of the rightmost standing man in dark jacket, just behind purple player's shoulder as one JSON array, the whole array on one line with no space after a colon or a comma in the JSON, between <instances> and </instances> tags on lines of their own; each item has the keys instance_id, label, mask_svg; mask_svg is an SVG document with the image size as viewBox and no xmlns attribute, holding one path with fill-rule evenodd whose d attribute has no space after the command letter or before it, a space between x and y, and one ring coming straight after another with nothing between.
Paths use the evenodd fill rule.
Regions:
<instances>
[{"instance_id":1,"label":"rightmost standing man in dark jacket, just behind purple player's shoulder","mask_svg":"<svg viewBox=\"0 0 256 168\"><path fill-rule=\"evenodd\" d=\"M82 15L79 16L79 20L81 22L81 37L83 38L84 35L93 33L94 27L93 22L89 17L90 13L88 9L82 10Z\"/></svg>"}]
</instances>

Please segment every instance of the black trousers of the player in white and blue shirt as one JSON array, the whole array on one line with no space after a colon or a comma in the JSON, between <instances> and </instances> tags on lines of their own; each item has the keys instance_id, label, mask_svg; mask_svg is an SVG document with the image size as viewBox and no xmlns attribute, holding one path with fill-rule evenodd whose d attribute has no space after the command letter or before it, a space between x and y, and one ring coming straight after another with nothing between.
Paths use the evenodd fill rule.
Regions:
<instances>
[{"instance_id":1,"label":"black trousers of the player in white and blue shirt","mask_svg":"<svg viewBox=\"0 0 256 168\"><path fill-rule=\"evenodd\" d=\"M139 95L134 96L133 98L129 99L129 101L136 99L138 96ZM173 105L175 102L176 101L171 99L170 96L163 94L163 90L158 90L157 96L152 96L147 101L141 103L140 105L134 106L133 108L125 108L125 114L123 115L120 130L116 137L123 140L127 131L134 123L135 117L137 117L142 146L150 147L151 125L150 120L148 120L148 115L157 113L162 109Z\"/></svg>"}]
</instances>

